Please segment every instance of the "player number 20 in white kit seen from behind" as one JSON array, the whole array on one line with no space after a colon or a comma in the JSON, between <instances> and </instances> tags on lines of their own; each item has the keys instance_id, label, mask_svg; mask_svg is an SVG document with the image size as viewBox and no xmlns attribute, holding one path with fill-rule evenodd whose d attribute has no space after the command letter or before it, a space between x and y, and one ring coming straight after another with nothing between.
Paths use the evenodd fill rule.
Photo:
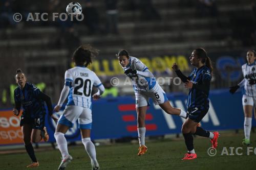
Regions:
<instances>
[{"instance_id":1,"label":"player number 20 in white kit seen from behind","mask_svg":"<svg viewBox=\"0 0 256 170\"><path fill-rule=\"evenodd\" d=\"M94 100L99 99L104 92L104 86L96 74L87 68L92 63L92 57L96 55L98 55L98 51L90 45L79 46L73 55L76 66L65 72L65 86L61 91L59 102L54 108L54 111L58 112L68 96L68 104L59 118L54 133L62 155L62 161L58 169L65 169L73 159L68 153L67 140L64 135L69 128L73 127L77 119L82 135L82 143L91 158L92 169L99 169L95 146L90 138L92 128L91 96ZM92 94L93 86L99 89L95 94Z\"/></svg>"}]
</instances>

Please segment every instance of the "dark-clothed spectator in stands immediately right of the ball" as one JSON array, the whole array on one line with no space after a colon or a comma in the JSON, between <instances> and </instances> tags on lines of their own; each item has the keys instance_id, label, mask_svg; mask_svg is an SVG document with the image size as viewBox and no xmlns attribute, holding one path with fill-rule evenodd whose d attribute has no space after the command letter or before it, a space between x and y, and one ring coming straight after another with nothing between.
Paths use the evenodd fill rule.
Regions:
<instances>
[{"instance_id":1,"label":"dark-clothed spectator in stands immediately right of the ball","mask_svg":"<svg viewBox=\"0 0 256 170\"><path fill-rule=\"evenodd\" d=\"M84 11L84 16L86 16L84 21L89 31L88 34L92 35L100 31L99 14L96 8L92 5L91 0L87 0L85 5L86 8L82 10Z\"/></svg>"}]
</instances>

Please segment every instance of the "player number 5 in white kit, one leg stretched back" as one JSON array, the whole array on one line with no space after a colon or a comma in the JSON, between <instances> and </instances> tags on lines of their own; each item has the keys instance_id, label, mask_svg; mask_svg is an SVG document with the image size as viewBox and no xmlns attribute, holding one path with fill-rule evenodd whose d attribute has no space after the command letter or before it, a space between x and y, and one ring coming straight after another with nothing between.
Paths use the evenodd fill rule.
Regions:
<instances>
[{"instance_id":1,"label":"player number 5 in white kit, one leg stretched back","mask_svg":"<svg viewBox=\"0 0 256 170\"><path fill-rule=\"evenodd\" d=\"M147 106L149 106L149 98L153 100L155 105L159 105L168 114L179 115L183 118L186 118L187 114L185 111L170 105L165 92L157 83L154 75L139 59L129 56L126 50L121 50L117 57L124 73L133 81L140 144L138 155L140 156L147 151L147 147L145 146L145 116Z\"/></svg>"}]
</instances>

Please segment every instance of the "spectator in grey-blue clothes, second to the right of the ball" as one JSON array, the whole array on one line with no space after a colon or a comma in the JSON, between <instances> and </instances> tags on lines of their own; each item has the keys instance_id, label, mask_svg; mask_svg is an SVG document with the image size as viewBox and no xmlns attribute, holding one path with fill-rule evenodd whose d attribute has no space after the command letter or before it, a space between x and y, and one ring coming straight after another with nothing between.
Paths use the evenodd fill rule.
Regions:
<instances>
[{"instance_id":1,"label":"spectator in grey-blue clothes, second to the right of the ball","mask_svg":"<svg viewBox=\"0 0 256 170\"><path fill-rule=\"evenodd\" d=\"M106 7L106 34L118 34L118 10L117 0L105 0Z\"/></svg>"}]
</instances>

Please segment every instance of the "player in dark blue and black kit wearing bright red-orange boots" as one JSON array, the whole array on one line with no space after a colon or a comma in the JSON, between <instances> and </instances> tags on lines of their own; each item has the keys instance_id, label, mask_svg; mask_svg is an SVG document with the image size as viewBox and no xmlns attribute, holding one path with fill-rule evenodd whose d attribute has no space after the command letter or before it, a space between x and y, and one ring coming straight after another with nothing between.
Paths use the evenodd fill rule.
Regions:
<instances>
[{"instance_id":1,"label":"player in dark blue and black kit wearing bright red-orange boots","mask_svg":"<svg viewBox=\"0 0 256 170\"><path fill-rule=\"evenodd\" d=\"M187 99L188 118L182 125L182 134L185 139L187 153L182 160L197 158L194 150L193 134L210 138L212 148L217 148L219 137L219 132L209 132L197 126L209 110L208 95L212 72L210 58L203 48L197 48L189 59L191 65L195 66L195 68L188 77L182 74L176 63L173 64L173 69L176 71L177 76L185 83L185 88L189 89Z\"/></svg>"}]
</instances>

